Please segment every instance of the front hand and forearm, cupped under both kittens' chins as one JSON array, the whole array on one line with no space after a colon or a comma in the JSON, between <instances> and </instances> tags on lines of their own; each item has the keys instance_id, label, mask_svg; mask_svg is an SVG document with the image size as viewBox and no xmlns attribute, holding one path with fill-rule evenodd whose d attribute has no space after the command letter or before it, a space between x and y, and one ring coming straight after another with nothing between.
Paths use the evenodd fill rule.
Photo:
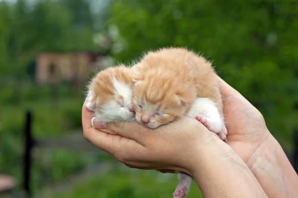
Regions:
<instances>
[{"instance_id":1,"label":"front hand and forearm, cupped under both kittens' chins","mask_svg":"<svg viewBox=\"0 0 298 198\"><path fill-rule=\"evenodd\" d=\"M206 198L267 198L231 147L193 118L184 117L158 130L132 122L98 131L91 127L93 116L83 107L84 137L129 167L188 173Z\"/></svg>"}]
</instances>

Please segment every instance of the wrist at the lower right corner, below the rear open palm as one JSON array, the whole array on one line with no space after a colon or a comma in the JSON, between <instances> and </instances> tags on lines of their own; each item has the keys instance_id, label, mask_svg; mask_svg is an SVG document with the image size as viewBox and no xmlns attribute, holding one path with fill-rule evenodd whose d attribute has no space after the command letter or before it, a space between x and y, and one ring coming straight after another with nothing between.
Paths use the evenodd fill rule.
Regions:
<instances>
[{"instance_id":1,"label":"wrist at the lower right corner, below the rear open palm","mask_svg":"<svg viewBox=\"0 0 298 198\"><path fill-rule=\"evenodd\" d=\"M247 161L270 198L296 198L298 177L283 148L270 134Z\"/></svg>"}]
</instances>

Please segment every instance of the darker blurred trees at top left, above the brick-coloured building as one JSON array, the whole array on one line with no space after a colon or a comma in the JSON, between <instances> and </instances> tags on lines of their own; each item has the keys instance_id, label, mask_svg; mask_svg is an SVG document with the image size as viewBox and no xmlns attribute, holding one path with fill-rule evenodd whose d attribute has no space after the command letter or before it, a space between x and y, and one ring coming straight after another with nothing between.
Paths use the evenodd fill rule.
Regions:
<instances>
[{"instance_id":1,"label":"darker blurred trees at top left, above the brick-coloured building","mask_svg":"<svg viewBox=\"0 0 298 198\"><path fill-rule=\"evenodd\" d=\"M89 1L1 1L0 12L1 77L26 79L26 66L40 52L100 50Z\"/></svg>"}]
</instances>

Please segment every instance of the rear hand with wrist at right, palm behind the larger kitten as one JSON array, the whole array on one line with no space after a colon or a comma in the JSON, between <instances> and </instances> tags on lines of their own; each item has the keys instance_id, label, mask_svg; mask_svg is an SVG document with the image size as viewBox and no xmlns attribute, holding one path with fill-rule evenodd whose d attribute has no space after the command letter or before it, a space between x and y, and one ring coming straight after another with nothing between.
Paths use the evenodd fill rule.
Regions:
<instances>
[{"instance_id":1,"label":"rear hand with wrist at right, palm behind the larger kitten","mask_svg":"<svg viewBox=\"0 0 298 198\"><path fill-rule=\"evenodd\" d=\"M219 79L224 97L227 143L243 159L270 198L296 198L298 176L262 114Z\"/></svg>"}]
</instances>

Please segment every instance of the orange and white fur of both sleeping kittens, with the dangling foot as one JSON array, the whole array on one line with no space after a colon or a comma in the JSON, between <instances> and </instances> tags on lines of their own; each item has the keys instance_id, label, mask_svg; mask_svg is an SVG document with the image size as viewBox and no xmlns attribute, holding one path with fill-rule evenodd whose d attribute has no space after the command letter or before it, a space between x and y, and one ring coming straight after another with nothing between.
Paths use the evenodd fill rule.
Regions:
<instances>
[{"instance_id":1,"label":"orange and white fur of both sleeping kittens, with the dangling foot","mask_svg":"<svg viewBox=\"0 0 298 198\"><path fill-rule=\"evenodd\" d=\"M214 69L203 57L182 48L149 52L132 68L121 65L99 72L89 85L89 95L86 106L103 122L132 121L135 109L137 121L144 123L142 118L149 121L146 123L149 128L189 115L197 116L222 139L226 135ZM178 176L179 184L173 195L185 198L192 177L184 173Z\"/></svg>"}]
</instances>

